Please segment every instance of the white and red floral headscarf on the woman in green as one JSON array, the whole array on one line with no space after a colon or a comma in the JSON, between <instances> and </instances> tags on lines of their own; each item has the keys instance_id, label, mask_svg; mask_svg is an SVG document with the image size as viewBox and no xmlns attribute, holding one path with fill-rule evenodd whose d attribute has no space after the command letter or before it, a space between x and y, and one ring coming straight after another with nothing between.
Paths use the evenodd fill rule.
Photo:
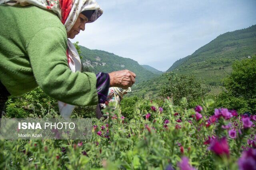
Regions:
<instances>
[{"instance_id":1,"label":"white and red floral headscarf on the woman in green","mask_svg":"<svg viewBox=\"0 0 256 170\"><path fill-rule=\"evenodd\" d=\"M4 3L11 6L16 4L20 4L20 6L34 5L51 10L58 15L67 32L73 27L81 12L95 10L87 23L94 22L103 13L95 0L0 0L0 4ZM67 42L68 66L72 72L81 71L82 67L78 52L69 39ZM58 101L58 107L62 117L69 118L75 106Z\"/></svg>"}]
</instances>

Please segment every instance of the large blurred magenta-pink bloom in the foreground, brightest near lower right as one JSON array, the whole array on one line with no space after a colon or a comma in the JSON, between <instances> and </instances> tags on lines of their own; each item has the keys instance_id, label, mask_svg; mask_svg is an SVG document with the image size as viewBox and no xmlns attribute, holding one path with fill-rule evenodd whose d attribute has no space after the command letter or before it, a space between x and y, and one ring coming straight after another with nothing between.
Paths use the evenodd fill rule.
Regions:
<instances>
[{"instance_id":1,"label":"large blurred magenta-pink bloom in the foreground, brightest near lower right","mask_svg":"<svg viewBox=\"0 0 256 170\"><path fill-rule=\"evenodd\" d=\"M217 139L212 140L208 149L214 152L216 155L226 154L229 156L229 146L225 137L219 141Z\"/></svg>"}]
</instances>

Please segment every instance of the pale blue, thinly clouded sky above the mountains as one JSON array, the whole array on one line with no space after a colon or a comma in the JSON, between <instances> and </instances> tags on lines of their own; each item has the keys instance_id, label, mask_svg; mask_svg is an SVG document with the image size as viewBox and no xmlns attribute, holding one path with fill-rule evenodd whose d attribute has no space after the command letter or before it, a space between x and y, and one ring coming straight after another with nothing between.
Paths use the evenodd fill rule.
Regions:
<instances>
[{"instance_id":1,"label":"pale blue, thinly clouded sky above the mountains","mask_svg":"<svg viewBox=\"0 0 256 170\"><path fill-rule=\"evenodd\" d=\"M166 71L218 35L256 24L256 0L96 0L103 14L72 42Z\"/></svg>"}]
</instances>

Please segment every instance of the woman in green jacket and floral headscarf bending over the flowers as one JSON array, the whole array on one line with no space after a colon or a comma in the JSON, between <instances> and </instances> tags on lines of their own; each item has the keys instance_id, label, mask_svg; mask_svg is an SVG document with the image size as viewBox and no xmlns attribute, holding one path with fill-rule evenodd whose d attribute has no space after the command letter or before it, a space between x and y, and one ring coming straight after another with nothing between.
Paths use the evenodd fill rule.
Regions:
<instances>
[{"instance_id":1,"label":"woman in green jacket and floral headscarf bending over the flowers","mask_svg":"<svg viewBox=\"0 0 256 170\"><path fill-rule=\"evenodd\" d=\"M0 4L0 116L8 96L22 96L37 86L61 102L87 106L104 103L110 86L134 84L136 75L129 70L80 72L80 58L68 38L102 15L95 0Z\"/></svg>"}]
</instances>

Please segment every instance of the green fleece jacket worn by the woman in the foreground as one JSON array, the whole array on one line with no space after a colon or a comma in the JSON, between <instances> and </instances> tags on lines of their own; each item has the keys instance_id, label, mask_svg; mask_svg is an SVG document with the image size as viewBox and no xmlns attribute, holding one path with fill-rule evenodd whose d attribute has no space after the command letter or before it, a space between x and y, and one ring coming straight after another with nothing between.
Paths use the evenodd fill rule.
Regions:
<instances>
[{"instance_id":1,"label":"green fleece jacket worn by the woman in the foreground","mask_svg":"<svg viewBox=\"0 0 256 170\"><path fill-rule=\"evenodd\" d=\"M0 81L13 96L40 86L72 105L98 103L96 75L68 67L67 33L53 12L0 5Z\"/></svg>"}]
</instances>

